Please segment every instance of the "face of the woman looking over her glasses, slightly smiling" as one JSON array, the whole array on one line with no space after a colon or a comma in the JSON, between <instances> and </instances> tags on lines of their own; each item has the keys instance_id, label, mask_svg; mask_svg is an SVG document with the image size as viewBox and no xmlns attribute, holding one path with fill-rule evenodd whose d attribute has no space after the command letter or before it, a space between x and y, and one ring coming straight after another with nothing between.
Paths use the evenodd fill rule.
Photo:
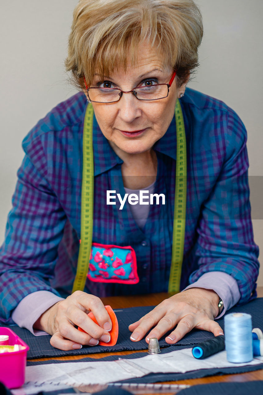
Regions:
<instances>
[{"instance_id":1,"label":"face of the woman looking over her glasses, slightly smiling","mask_svg":"<svg viewBox=\"0 0 263 395\"><path fill-rule=\"evenodd\" d=\"M91 87L120 88L129 91L138 86L169 83L173 70L154 49L140 47L138 66L128 67L126 73L116 71L100 81L94 76ZM101 85L100 85L101 83ZM111 84L111 85L110 85ZM104 85L105 87L105 85ZM92 103L96 119L103 135L109 140L117 154L139 154L146 152L166 132L175 111L175 103L185 86L177 88L176 80L169 88L167 98L154 101L137 100L133 93L124 93L116 103Z\"/></svg>"}]
</instances>

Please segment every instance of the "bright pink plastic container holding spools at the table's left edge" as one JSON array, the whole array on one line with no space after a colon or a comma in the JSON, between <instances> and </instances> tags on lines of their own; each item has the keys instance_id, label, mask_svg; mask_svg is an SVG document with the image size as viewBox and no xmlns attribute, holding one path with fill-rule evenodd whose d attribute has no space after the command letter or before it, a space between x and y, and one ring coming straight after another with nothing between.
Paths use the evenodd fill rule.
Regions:
<instances>
[{"instance_id":1,"label":"bright pink plastic container holding spools at the table's left edge","mask_svg":"<svg viewBox=\"0 0 263 395\"><path fill-rule=\"evenodd\" d=\"M0 381L8 388L18 388L24 384L26 353L28 345L9 328L0 327L0 335L9 336L9 346L20 344L24 350L0 354Z\"/></svg>"}]
</instances>

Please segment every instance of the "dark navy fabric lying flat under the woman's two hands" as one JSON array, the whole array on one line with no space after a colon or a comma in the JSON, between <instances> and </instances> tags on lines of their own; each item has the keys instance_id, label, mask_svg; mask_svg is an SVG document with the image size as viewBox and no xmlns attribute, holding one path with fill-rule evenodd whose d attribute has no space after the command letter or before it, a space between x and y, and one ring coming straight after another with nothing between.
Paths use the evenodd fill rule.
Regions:
<instances>
[{"instance_id":1,"label":"dark navy fabric lying flat under the woman's two hands","mask_svg":"<svg viewBox=\"0 0 263 395\"><path fill-rule=\"evenodd\" d=\"M145 342L145 339L140 340L139 342L132 342L130 340L131 332L128 329L128 325L139 320L143 315L152 310L152 308L153 307L142 306L114 310L119 324L119 336L115 346L110 347L100 345L94 347L83 346L83 348L80 350L63 351L51 346L51 336L49 335L36 337L32 335L32 333L30 333L27 329L19 328L16 325L11 325L10 328L15 333L17 333L17 335L21 337L21 339L23 339L30 347L30 350L27 354L28 359L40 357L60 357L63 355L94 354L99 352L117 352L124 350L145 350L148 348L148 344ZM252 327L259 327L263 329L262 311L263 298L257 298L246 305L233 307L228 312L245 312L251 314ZM220 318L217 322L224 330L224 318ZM165 342L165 336L166 335L160 339L160 347L192 346L193 344L197 344L203 340L213 337L212 333L210 332L194 329L177 344L170 345Z\"/></svg>"}]
</instances>

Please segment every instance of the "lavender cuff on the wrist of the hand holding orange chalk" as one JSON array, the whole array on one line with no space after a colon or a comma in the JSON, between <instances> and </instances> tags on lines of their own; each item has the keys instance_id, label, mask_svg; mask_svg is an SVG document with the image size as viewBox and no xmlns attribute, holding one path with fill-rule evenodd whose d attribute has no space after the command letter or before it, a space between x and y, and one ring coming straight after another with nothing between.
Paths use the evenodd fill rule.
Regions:
<instances>
[{"instance_id":1,"label":"lavender cuff on the wrist of the hand holding orange chalk","mask_svg":"<svg viewBox=\"0 0 263 395\"><path fill-rule=\"evenodd\" d=\"M35 336L47 335L44 331L33 329L33 325L43 312L60 300L64 300L64 298L49 291L32 292L19 302L12 313L12 320L21 328L28 329Z\"/></svg>"}]
</instances>

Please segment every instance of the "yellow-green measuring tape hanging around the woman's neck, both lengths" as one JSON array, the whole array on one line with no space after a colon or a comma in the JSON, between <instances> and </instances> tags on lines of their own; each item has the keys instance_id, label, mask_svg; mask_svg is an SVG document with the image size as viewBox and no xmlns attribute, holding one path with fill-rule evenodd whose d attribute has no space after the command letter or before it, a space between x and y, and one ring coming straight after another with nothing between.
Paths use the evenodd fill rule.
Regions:
<instances>
[{"instance_id":1,"label":"yellow-green measuring tape hanging around the woman's neck, both lengths","mask_svg":"<svg viewBox=\"0 0 263 395\"><path fill-rule=\"evenodd\" d=\"M180 291L182 260L184 254L184 234L186 221L186 137L184 119L179 100L175 106L177 162L175 182L175 208L173 222L173 246L168 292ZM81 243L77 273L72 293L83 291L90 263L93 231L94 164L93 164L93 107L88 104L83 126L83 171L81 190Z\"/></svg>"}]
</instances>

